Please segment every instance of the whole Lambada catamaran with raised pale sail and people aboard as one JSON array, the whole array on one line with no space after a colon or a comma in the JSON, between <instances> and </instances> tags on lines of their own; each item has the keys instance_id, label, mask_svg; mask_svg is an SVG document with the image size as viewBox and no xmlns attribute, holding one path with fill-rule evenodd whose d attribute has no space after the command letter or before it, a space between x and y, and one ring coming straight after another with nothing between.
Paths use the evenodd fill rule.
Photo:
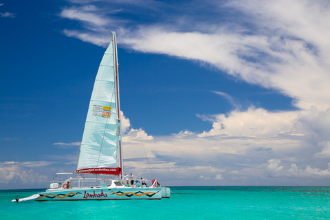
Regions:
<instances>
[{"instance_id":1,"label":"whole Lambada catamaran with raised pale sail and people aboard","mask_svg":"<svg viewBox=\"0 0 330 220\"><path fill-rule=\"evenodd\" d=\"M162 199L170 197L170 188L153 179L151 186L128 185L123 180L122 130L118 55L115 32L107 48L94 83L83 140L80 146L79 177L52 181L50 188L19 201L76 201L107 199ZM61 174L61 173L60 173ZM62 173L71 174L72 173ZM84 175L96 175L85 178Z\"/></svg>"}]
</instances>

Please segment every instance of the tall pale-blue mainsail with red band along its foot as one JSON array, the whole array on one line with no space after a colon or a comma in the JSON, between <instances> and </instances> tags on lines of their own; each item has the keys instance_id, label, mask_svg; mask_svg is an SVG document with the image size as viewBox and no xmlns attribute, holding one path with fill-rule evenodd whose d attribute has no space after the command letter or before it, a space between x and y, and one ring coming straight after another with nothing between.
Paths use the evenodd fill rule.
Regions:
<instances>
[{"instance_id":1,"label":"tall pale-blue mainsail with red band along its foot","mask_svg":"<svg viewBox=\"0 0 330 220\"><path fill-rule=\"evenodd\" d=\"M122 135L115 32L104 53L87 113L76 173L120 175Z\"/></svg>"}]
</instances>

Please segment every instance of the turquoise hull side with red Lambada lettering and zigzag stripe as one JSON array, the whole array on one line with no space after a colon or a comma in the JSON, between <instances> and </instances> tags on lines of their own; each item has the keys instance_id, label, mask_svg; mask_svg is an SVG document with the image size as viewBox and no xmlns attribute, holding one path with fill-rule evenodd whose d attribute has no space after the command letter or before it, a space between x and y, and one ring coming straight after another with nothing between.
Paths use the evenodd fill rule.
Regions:
<instances>
[{"instance_id":1,"label":"turquoise hull side with red Lambada lettering and zigzag stripe","mask_svg":"<svg viewBox=\"0 0 330 220\"><path fill-rule=\"evenodd\" d=\"M46 190L36 201L162 199L162 188L85 188Z\"/></svg>"}]
</instances>

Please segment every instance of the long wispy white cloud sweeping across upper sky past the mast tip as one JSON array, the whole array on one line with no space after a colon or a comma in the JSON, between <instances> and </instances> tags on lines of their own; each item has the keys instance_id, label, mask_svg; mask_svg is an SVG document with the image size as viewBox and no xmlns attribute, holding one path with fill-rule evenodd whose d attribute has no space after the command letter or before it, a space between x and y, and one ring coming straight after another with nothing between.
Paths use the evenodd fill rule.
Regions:
<instances>
[{"instance_id":1,"label":"long wispy white cloud sweeping across upper sky past the mast tip","mask_svg":"<svg viewBox=\"0 0 330 220\"><path fill-rule=\"evenodd\" d=\"M300 109L309 109L311 105L323 110L329 107L330 91L326 88L330 81L327 74L330 27L327 22L319 22L330 17L325 1L290 1L290 8L295 8L294 16L291 11L280 10L287 8L287 1L228 1L225 4L208 1L206 4L219 19L211 16L206 20L201 13L205 8L201 6L194 9L198 12L195 17L187 10L177 9L177 14L163 14L162 21L155 19L150 23L146 19L139 25L118 23L121 14L113 17L100 8L88 14L80 6L65 9L61 14L90 24L86 31L66 30L68 36L105 46L110 41L105 36L110 36L110 30L117 30L118 42L124 47L208 63L230 76L294 98L293 104ZM120 5L126 6L118 3L116 7ZM195 4L186 7L192 8L192 5ZM244 23L250 23L252 28L247 29L241 19L234 20L231 16L236 14L227 13L227 17L223 17L221 13L225 9L243 12ZM107 23L107 19L116 19L116 25ZM307 33L310 28L313 31Z\"/></svg>"}]
</instances>

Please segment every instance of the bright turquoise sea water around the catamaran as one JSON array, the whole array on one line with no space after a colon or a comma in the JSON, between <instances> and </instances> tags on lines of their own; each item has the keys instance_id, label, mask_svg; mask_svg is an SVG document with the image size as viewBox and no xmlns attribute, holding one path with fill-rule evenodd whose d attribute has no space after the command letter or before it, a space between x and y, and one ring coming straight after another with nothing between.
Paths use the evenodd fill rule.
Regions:
<instances>
[{"instance_id":1,"label":"bright turquoise sea water around the catamaran","mask_svg":"<svg viewBox=\"0 0 330 220\"><path fill-rule=\"evenodd\" d=\"M0 190L0 219L330 219L329 187L171 187L170 199L28 201Z\"/></svg>"}]
</instances>

